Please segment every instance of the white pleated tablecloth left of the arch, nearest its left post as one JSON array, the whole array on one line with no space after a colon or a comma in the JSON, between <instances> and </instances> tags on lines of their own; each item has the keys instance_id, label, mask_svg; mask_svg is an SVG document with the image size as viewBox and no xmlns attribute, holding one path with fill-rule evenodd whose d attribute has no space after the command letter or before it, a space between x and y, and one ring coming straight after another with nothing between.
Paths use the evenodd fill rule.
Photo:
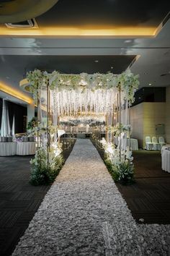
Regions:
<instances>
[{"instance_id":1,"label":"white pleated tablecloth left of the arch, nearest its left post","mask_svg":"<svg viewBox=\"0 0 170 256\"><path fill-rule=\"evenodd\" d=\"M17 155L35 155L36 142L17 142Z\"/></svg>"}]
</instances>

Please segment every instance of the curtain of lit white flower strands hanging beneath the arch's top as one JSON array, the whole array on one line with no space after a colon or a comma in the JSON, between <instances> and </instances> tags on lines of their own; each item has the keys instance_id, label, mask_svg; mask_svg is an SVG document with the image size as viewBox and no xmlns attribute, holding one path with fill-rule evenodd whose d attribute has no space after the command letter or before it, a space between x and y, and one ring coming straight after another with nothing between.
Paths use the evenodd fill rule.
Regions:
<instances>
[{"instance_id":1,"label":"curtain of lit white flower strands hanging beneath the arch's top","mask_svg":"<svg viewBox=\"0 0 170 256\"><path fill-rule=\"evenodd\" d=\"M94 92L81 90L53 90L51 93L51 106L53 112L59 116L77 115L82 112L93 111L95 114L112 114L117 93L114 89L98 89Z\"/></svg>"}]
</instances>

